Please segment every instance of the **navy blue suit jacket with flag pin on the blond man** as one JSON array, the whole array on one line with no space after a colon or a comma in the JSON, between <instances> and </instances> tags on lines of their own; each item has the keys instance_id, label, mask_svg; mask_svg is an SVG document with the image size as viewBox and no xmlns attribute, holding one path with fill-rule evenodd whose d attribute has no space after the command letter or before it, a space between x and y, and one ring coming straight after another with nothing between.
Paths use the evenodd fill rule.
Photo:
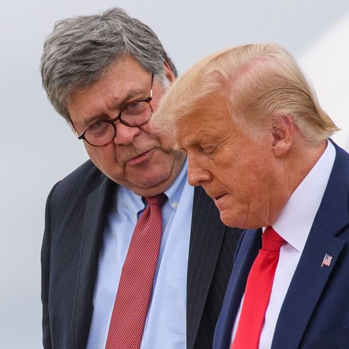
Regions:
<instances>
[{"instance_id":1,"label":"navy blue suit jacket with flag pin on the blond man","mask_svg":"<svg viewBox=\"0 0 349 349\"><path fill-rule=\"evenodd\" d=\"M308 240L286 293L272 349L349 348L349 154L336 158ZM246 230L214 334L215 349L229 348L232 328L261 230ZM325 254L333 256L321 267Z\"/></svg>"}]
</instances>

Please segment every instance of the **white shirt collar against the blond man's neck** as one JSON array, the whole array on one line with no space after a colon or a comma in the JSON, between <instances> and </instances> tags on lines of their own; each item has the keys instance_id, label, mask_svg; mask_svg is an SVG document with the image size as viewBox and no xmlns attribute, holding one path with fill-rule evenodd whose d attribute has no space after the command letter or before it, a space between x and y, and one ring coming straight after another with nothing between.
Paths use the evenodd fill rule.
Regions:
<instances>
[{"instance_id":1,"label":"white shirt collar against the blond man's neck","mask_svg":"<svg viewBox=\"0 0 349 349\"><path fill-rule=\"evenodd\" d=\"M292 193L273 224L275 231L297 251L302 252L329 180L336 150L327 147L306 178Z\"/></svg>"}]
</instances>

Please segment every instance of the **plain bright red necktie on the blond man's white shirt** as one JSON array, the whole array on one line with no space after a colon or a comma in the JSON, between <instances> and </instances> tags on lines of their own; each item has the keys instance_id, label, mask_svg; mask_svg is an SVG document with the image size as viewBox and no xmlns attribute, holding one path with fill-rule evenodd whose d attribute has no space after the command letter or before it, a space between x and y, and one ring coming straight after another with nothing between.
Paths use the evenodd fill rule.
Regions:
<instances>
[{"instance_id":1,"label":"plain bright red necktie on the blond man's white shirt","mask_svg":"<svg viewBox=\"0 0 349 349\"><path fill-rule=\"evenodd\" d=\"M248 274L241 315L231 349L258 348L280 247L284 242L272 227L267 227L262 234L262 248Z\"/></svg>"}]
</instances>

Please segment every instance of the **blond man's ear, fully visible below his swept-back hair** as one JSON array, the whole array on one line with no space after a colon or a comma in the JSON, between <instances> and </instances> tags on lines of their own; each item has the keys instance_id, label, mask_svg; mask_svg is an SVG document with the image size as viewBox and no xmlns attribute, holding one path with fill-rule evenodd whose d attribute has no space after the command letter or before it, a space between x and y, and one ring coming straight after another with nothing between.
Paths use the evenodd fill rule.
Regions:
<instances>
[{"instance_id":1,"label":"blond man's ear, fully visible below his swept-back hair","mask_svg":"<svg viewBox=\"0 0 349 349\"><path fill-rule=\"evenodd\" d=\"M294 122L290 115L279 116L273 121L272 135L275 156L284 156L291 149L294 139Z\"/></svg>"}]
</instances>

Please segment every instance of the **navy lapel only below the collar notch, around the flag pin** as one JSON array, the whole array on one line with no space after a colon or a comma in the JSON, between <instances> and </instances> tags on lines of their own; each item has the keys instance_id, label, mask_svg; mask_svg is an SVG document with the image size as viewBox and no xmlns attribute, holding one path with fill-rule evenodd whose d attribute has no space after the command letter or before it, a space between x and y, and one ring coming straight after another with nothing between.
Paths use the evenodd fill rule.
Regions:
<instances>
[{"instance_id":1,"label":"navy lapel only below the collar notch, around the flag pin","mask_svg":"<svg viewBox=\"0 0 349 349\"><path fill-rule=\"evenodd\" d=\"M298 347L343 245L343 240L313 224L280 311L273 349ZM333 259L329 267L321 267L326 253Z\"/></svg>"}]
</instances>

